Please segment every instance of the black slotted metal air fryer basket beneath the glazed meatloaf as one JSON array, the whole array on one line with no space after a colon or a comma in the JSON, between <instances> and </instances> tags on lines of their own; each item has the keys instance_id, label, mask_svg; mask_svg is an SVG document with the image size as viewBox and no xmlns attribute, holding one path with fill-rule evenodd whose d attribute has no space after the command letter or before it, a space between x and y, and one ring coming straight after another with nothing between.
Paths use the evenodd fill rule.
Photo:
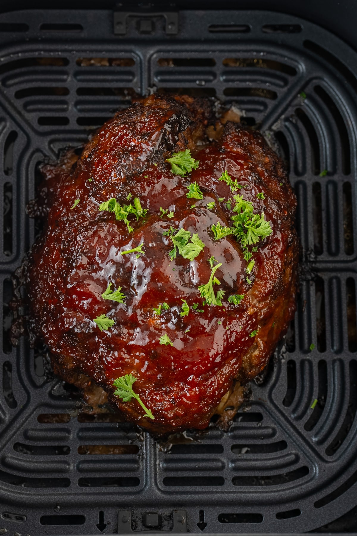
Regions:
<instances>
[{"instance_id":1,"label":"black slotted metal air fryer basket beneath the glazed meatloaf","mask_svg":"<svg viewBox=\"0 0 357 536\"><path fill-rule=\"evenodd\" d=\"M356 54L259 11L18 11L0 16L0 47L0 534L305 532L356 507ZM287 161L301 293L230 430L161 445L83 414L44 351L11 347L10 278L39 231L25 209L38 163L132 90L177 88L235 103Z\"/></svg>"}]
</instances>

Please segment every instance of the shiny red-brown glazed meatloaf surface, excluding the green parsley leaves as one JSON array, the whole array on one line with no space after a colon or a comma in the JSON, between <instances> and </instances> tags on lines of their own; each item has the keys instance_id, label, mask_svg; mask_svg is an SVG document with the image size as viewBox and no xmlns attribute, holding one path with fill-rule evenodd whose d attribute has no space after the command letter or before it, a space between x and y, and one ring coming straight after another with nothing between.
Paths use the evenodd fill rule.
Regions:
<instances>
[{"instance_id":1,"label":"shiny red-brown glazed meatloaf surface, excluding the green parsley leaves","mask_svg":"<svg viewBox=\"0 0 357 536\"><path fill-rule=\"evenodd\" d=\"M151 96L119 112L77 162L70 153L56 166L43 166L40 200L30 207L46 218L26 264L31 331L49 346L57 374L78 385L83 374L93 378L127 420L155 433L206 427L234 378L246 381L263 369L295 308L295 197L261 135L227 123L217 144L195 154L199 168L186 178L173 175L164 161L185 143L193 146L200 128L203 138L208 108L193 99ZM230 225L233 215L217 200L233 198L218 181L225 169L246 187L239 193L252 201L254 212L264 211L273 230L257 244L251 285L234 236L215 241L210 230L217 221ZM192 181L199 183L202 200L187 199ZM258 192L265 200L256 198ZM130 217L131 234L113 213L98 211L111 197L128 204L128 193L148 209L138 223ZM80 203L71 209L75 199ZM208 210L212 200L216 207ZM160 207L174 217L160 218ZM192 262L179 254L170 260L172 241L163 236L170 226L198 233L204 242ZM141 242L145 255L120 255ZM225 292L223 306L206 305L201 313L192 306L202 309L198 286L208 282L212 255L222 263L214 290ZM102 299L110 282L112 289L121 287L125 303ZM227 302L231 294L245 294L239 306ZM182 300L190 307L184 317ZM155 315L153 307L163 302L170 310ZM115 320L108 331L93 322L102 314ZM249 337L254 330L257 335ZM172 347L159 344L164 333ZM134 399L123 403L113 396L114 379L128 373L138 378L134 390L154 421L143 418Z\"/></svg>"}]
</instances>

